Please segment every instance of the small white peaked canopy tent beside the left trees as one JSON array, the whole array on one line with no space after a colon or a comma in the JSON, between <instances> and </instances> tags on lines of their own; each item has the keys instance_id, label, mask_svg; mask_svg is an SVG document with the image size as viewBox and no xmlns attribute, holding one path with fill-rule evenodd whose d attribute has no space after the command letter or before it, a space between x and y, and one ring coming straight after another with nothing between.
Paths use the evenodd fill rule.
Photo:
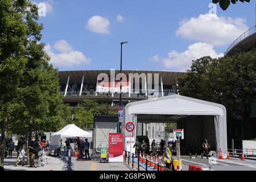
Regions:
<instances>
[{"instance_id":1,"label":"small white peaked canopy tent beside the left trees","mask_svg":"<svg viewBox=\"0 0 256 182\"><path fill-rule=\"evenodd\" d=\"M60 131L53 133L51 135L51 145L52 146L59 146L61 138L73 138L73 137L86 137L92 138L92 134L80 129L74 124L67 125Z\"/></svg>"}]
</instances>

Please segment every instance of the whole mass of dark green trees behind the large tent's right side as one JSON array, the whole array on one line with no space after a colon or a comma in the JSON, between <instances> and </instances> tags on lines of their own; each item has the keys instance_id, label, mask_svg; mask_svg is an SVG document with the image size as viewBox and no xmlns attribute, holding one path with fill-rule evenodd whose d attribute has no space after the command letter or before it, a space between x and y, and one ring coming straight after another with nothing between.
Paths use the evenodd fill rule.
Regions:
<instances>
[{"instance_id":1,"label":"whole mass of dark green trees behind the large tent's right side","mask_svg":"<svg viewBox=\"0 0 256 182\"><path fill-rule=\"evenodd\" d=\"M250 139L251 103L256 101L256 53L231 57L201 57L192 62L187 75L177 79L179 93L222 104L229 118L242 118L242 138Z\"/></svg>"}]
</instances>

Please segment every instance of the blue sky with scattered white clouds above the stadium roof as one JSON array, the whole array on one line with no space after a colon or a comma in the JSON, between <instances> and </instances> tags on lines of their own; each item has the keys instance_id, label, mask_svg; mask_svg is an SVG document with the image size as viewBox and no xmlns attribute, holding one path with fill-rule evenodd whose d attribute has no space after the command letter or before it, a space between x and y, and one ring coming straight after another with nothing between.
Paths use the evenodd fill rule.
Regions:
<instances>
[{"instance_id":1,"label":"blue sky with scattered white clouds above the stadium roof","mask_svg":"<svg viewBox=\"0 0 256 182\"><path fill-rule=\"evenodd\" d=\"M193 59L222 56L255 24L254 1L217 5L216 14L211 0L35 2L46 5L42 42L60 71L119 69L122 41L123 69L185 71Z\"/></svg>"}]
</instances>

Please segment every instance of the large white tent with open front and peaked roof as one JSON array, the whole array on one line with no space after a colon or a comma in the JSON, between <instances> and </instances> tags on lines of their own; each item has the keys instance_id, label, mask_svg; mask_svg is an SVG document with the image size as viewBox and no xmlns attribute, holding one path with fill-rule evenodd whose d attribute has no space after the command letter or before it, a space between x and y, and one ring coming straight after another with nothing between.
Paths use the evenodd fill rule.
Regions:
<instances>
[{"instance_id":1,"label":"large white tent with open front and peaked roof","mask_svg":"<svg viewBox=\"0 0 256 182\"><path fill-rule=\"evenodd\" d=\"M122 129L125 130L127 122L133 122L135 125L134 136L136 136L137 116L139 114L213 115L216 148L217 150L221 148L224 156L227 155L226 108L223 105L180 95L172 95L131 102L125 106L123 113L125 122L122 123ZM130 135L127 131L124 131L123 134L124 137Z\"/></svg>"}]
</instances>

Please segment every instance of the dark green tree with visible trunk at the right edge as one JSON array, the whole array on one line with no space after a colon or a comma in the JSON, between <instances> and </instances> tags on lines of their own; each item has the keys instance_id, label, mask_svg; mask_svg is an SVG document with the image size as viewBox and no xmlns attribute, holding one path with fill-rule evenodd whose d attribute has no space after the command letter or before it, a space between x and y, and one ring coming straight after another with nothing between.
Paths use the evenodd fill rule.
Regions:
<instances>
[{"instance_id":1,"label":"dark green tree with visible trunk at the right edge","mask_svg":"<svg viewBox=\"0 0 256 182\"><path fill-rule=\"evenodd\" d=\"M256 101L256 49L218 59L213 82L222 102L232 117L242 117L242 139L251 139L251 103Z\"/></svg>"}]
</instances>

